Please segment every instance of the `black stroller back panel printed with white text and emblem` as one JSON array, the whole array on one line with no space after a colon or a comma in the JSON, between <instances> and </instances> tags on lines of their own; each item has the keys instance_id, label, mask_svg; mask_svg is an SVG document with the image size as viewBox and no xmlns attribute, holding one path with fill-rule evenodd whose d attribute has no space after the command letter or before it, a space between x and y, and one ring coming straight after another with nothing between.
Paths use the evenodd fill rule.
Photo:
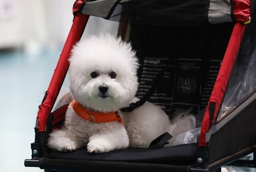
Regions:
<instances>
[{"instance_id":1,"label":"black stroller back panel printed with white text and emblem","mask_svg":"<svg viewBox=\"0 0 256 172\"><path fill-rule=\"evenodd\" d=\"M143 97L164 68L164 75L156 83L149 101L161 106L171 116L197 114L207 106L219 64L220 61L210 61L209 68L202 71L201 59L145 58L136 96Z\"/></svg>"}]
</instances>

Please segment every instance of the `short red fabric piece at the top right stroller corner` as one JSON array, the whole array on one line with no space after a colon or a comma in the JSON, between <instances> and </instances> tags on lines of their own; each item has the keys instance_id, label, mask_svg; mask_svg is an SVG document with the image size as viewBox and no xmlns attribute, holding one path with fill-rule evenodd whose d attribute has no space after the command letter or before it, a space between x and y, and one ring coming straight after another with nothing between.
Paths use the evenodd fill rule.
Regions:
<instances>
[{"instance_id":1,"label":"short red fabric piece at the top right stroller corner","mask_svg":"<svg viewBox=\"0 0 256 172\"><path fill-rule=\"evenodd\" d=\"M248 22L250 20L250 0L233 0L234 16L237 22Z\"/></svg>"}]
</instances>

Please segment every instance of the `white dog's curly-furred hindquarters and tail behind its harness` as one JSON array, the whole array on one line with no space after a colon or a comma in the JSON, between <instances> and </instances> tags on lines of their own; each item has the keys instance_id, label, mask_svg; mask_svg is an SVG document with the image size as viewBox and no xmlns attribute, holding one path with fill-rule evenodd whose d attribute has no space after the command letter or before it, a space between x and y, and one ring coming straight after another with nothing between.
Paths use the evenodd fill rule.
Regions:
<instances>
[{"instance_id":1,"label":"white dog's curly-furred hindquarters and tail behind its harness","mask_svg":"<svg viewBox=\"0 0 256 172\"><path fill-rule=\"evenodd\" d=\"M134 98L132 102L138 101ZM129 147L148 148L150 143L165 132L175 136L195 128L195 117L189 114L179 114L170 121L169 117L159 107L150 102L134 109L132 112L122 112L122 119L129 135ZM172 146L170 142L167 146Z\"/></svg>"}]
</instances>

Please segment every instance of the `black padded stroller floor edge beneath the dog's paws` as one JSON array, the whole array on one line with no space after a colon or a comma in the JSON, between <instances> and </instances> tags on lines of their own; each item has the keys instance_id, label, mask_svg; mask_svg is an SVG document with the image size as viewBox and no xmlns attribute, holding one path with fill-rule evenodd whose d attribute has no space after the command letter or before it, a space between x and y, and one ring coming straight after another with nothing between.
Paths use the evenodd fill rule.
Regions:
<instances>
[{"instance_id":1,"label":"black padded stroller floor edge beneath the dog's paws","mask_svg":"<svg viewBox=\"0 0 256 172\"><path fill-rule=\"evenodd\" d=\"M177 145L174 147L164 147L157 149L150 148L127 148L113 150L108 153L92 155L87 153L86 148L75 150L74 152L57 152L49 154L49 159L61 160L91 160L91 161L126 161L135 163L160 163L175 164L189 161L194 163L194 153L197 150L197 144Z\"/></svg>"}]
</instances>

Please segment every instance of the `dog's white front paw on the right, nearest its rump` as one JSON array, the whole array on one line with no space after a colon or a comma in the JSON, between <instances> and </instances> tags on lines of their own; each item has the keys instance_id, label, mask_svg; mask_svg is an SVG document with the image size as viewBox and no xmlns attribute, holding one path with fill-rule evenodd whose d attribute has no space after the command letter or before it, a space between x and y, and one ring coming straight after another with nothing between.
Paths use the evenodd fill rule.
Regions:
<instances>
[{"instance_id":1,"label":"dog's white front paw on the right, nearest its rump","mask_svg":"<svg viewBox=\"0 0 256 172\"><path fill-rule=\"evenodd\" d=\"M109 152L111 150L114 150L114 147L112 147L111 143L109 143L107 140L92 140L87 145L87 152L89 153L104 153Z\"/></svg>"}]
</instances>

